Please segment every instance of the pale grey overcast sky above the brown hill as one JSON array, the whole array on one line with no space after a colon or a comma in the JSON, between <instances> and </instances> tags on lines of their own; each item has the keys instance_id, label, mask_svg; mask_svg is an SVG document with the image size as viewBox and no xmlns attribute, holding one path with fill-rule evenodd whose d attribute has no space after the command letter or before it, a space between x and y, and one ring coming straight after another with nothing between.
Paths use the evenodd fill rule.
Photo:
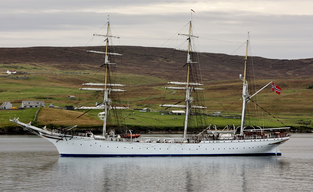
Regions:
<instances>
[{"instance_id":1,"label":"pale grey overcast sky above the brown hill","mask_svg":"<svg viewBox=\"0 0 313 192\"><path fill-rule=\"evenodd\" d=\"M0 47L90 45L108 15L121 37L115 44L160 47L193 9L201 52L231 54L241 44L225 41L245 42L250 30L253 56L313 58L312 8L312 0L10 0L1 2ZM175 48L170 42L162 47Z\"/></svg>"}]
</instances>

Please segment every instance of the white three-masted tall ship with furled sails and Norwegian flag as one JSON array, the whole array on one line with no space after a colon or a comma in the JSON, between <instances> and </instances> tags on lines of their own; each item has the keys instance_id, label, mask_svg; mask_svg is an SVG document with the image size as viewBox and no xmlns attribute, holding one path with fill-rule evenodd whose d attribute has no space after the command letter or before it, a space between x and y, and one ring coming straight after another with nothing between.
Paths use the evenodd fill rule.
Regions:
<instances>
[{"instance_id":1,"label":"white three-masted tall ship with furled sails and Norwegian flag","mask_svg":"<svg viewBox=\"0 0 313 192\"><path fill-rule=\"evenodd\" d=\"M89 51L90 53L103 54L105 68L103 83L85 83L82 90L103 91L103 102L95 107L77 107L75 109L101 109L103 112L98 117L103 120L102 136L91 132L73 132L73 127L63 130L47 130L25 124L18 118L11 119L15 124L51 141L61 156L229 156L229 155L281 155L277 148L280 144L290 139L290 134L282 130L287 128L273 128L279 130L266 134L266 129L260 126L248 125L253 117L249 117L247 109L249 102L258 92L252 94L248 88L247 51L244 64L243 81L243 108L239 127L227 126L218 130L216 126L209 125L205 118L204 88L200 73L199 52L196 50L194 39L198 38L193 33L192 19L188 23L187 34L178 34L186 38L187 49L176 48L187 54L184 82L169 82L167 89L174 89L186 93L185 104L161 104L164 109L181 108L186 110L184 132L182 137L141 137L127 129L122 110L128 109L121 105L121 93L124 92L116 73L116 60L114 47L110 45L111 39L116 38L110 33L110 23L107 23L105 52ZM270 83L269 83L270 84ZM268 85L269 85L268 84ZM266 85L266 86L268 86ZM88 87L87 87L88 86ZM266 87L265 86L265 87ZM265 88L264 87L264 88ZM247 125L246 125L247 124ZM236 133L240 130L240 133Z\"/></svg>"}]
</instances>

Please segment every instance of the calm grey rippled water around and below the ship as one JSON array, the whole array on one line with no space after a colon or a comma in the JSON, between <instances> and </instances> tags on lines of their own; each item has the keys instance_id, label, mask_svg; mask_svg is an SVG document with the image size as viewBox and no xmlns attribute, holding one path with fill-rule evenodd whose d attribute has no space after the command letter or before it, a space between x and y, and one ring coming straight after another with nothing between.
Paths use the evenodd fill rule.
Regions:
<instances>
[{"instance_id":1,"label":"calm grey rippled water around and below the ship","mask_svg":"<svg viewBox=\"0 0 313 192\"><path fill-rule=\"evenodd\" d=\"M0 136L0 191L313 191L313 134L269 157L60 157L35 136Z\"/></svg>"}]
</instances>

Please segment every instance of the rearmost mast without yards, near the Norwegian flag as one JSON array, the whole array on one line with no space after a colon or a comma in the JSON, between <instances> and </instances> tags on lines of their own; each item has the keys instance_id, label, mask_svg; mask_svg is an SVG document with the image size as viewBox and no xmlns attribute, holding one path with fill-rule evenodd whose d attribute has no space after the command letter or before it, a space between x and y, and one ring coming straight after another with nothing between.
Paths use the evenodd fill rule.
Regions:
<instances>
[{"instance_id":1,"label":"rearmost mast without yards, near the Norwegian flag","mask_svg":"<svg viewBox=\"0 0 313 192\"><path fill-rule=\"evenodd\" d=\"M248 32L248 37L249 37L249 32ZM247 98L249 97L248 82L246 80L248 44L249 44L249 40L247 40L246 58L245 58L245 62L244 62L244 78L242 79L244 81L244 83L243 83L243 89L242 89L243 104L242 104L242 114L241 114L240 136L243 135L243 131L244 131L244 121L245 121L245 113L246 113L246 107L247 107ZM240 78L241 78L241 75L240 75Z\"/></svg>"}]
</instances>

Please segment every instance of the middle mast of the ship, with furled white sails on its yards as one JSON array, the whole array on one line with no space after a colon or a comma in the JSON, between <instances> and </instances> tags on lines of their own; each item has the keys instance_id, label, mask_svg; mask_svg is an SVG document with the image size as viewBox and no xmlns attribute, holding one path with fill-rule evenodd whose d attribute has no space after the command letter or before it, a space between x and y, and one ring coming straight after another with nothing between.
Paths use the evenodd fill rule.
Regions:
<instances>
[{"instance_id":1,"label":"middle mast of the ship, with furled white sails on its yards","mask_svg":"<svg viewBox=\"0 0 313 192\"><path fill-rule=\"evenodd\" d=\"M197 87L192 87L192 86L203 86L203 84L201 83L189 83L189 74L190 74L190 67L192 63L198 63L198 62L192 62L191 58L190 58L190 52L192 52L192 50L190 50L190 44L191 44L191 39L192 38L198 38L196 36L191 35L191 29L192 29L192 19L190 19L189 22L189 33L188 34L178 34L178 35L182 35L182 36L187 36L187 40L188 40L188 49L187 50L183 50L183 49L175 49L175 50L180 50L180 51L186 51L187 52L187 65L188 65L188 70L187 70L187 81L186 83L184 82L169 82L168 84L176 84L176 85L186 85L186 87L166 87L166 89L181 89L181 90L186 90L186 105L169 105L169 104L163 104L160 105L161 107L176 107L176 108L183 108L186 109L186 115L185 115L185 124L184 124L184 135L183 135L183 139L182 142L187 142L187 126L188 126L188 115L190 112L190 109L206 109L206 107L202 107L202 106L196 106L196 105L191 105L191 103L193 102L193 98L190 97L190 93L191 91L195 91L195 90L204 90L203 88L197 88Z\"/></svg>"}]
</instances>

